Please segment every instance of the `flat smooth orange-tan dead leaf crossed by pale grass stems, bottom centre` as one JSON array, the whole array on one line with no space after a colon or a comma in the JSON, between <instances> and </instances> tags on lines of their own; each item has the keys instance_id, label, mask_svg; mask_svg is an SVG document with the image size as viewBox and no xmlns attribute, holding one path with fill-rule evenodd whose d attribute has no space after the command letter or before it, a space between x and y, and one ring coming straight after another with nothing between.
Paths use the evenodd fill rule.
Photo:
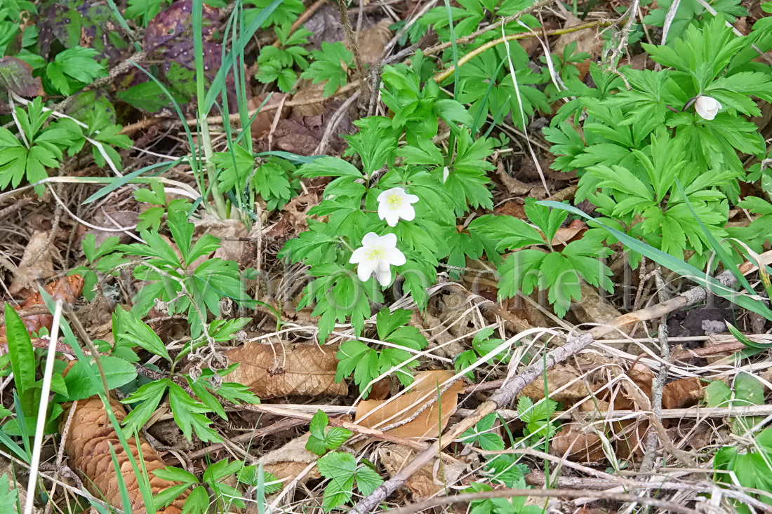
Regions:
<instances>
[{"instance_id":1,"label":"flat smooth orange-tan dead leaf crossed by pale grass stems, bottom centre","mask_svg":"<svg viewBox=\"0 0 772 514\"><path fill-rule=\"evenodd\" d=\"M365 400L357 405L354 421L367 428L382 429L388 425L407 421L398 427L390 428L388 433L401 438L428 439L437 438L445 430L445 425L455 412L459 394L463 391L462 380L456 380L442 394L440 412L437 410L437 394L447 380L453 377L451 371L423 371L415 376L415 382L408 393L389 400ZM425 405L432 401L428 407ZM409 420L409 421L408 421Z\"/></svg>"}]
</instances>

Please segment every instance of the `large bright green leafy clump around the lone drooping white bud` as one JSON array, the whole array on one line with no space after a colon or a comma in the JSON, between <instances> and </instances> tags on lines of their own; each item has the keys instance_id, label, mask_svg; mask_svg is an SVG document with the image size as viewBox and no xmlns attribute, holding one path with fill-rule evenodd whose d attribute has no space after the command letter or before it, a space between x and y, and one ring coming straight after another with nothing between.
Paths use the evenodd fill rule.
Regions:
<instances>
[{"instance_id":1,"label":"large bright green leafy clump around the lone drooping white bud","mask_svg":"<svg viewBox=\"0 0 772 514\"><path fill-rule=\"evenodd\" d=\"M580 174L577 200L591 200L630 235L703 268L713 247L688 205L713 238L725 238L729 204L746 178L738 151L764 157L757 127L742 117L760 112L750 96L772 100L772 76L750 62L753 40L734 36L720 19L690 26L672 48L644 45L668 69L623 69L629 90L606 79L597 91L565 92L580 97L561 107L544 135L561 156L553 167ZM702 112L700 99L720 112ZM584 140L563 121L580 110ZM686 184L686 198L677 181Z\"/></svg>"}]
</instances>

